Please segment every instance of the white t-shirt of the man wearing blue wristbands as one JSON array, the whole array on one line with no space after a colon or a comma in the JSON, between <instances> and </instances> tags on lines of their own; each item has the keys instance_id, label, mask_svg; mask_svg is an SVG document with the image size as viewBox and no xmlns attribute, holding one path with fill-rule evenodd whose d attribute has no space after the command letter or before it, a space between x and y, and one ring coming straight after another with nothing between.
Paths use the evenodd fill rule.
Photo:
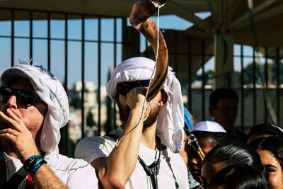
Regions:
<instances>
[{"instance_id":1,"label":"white t-shirt of the man wearing blue wristbands","mask_svg":"<svg viewBox=\"0 0 283 189\"><path fill-rule=\"evenodd\" d=\"M5 159L7 179L9 179L23 164L19 159L14 159L7 154ZM86 161L68 158L56 152L48 155L45 161L62 183L69 188L98 188L96 171ZM23 179L18 188L25 188L27 178Z\"/></svg>"}]
</instances>

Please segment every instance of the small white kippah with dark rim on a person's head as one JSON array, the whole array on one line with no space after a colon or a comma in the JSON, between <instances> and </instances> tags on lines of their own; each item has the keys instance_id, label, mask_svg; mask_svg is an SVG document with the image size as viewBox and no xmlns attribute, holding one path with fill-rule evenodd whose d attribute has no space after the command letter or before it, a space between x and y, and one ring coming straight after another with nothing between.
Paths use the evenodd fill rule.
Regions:
<instances>
[{"instance_id":1,"label":"small white kippah with dark rim on a person's head","mask_svg":"<svg viewBox=\"0 0 283 189\"><path fill-rule=\"evenodd\" d=\"M226 130L224 130L224 128L221 125L219 125L219 123L213 122L213 121L198 122L190 130L190 132L193 132L193 131L225 132L226 133Z\"/></svg>"}]
</instances>

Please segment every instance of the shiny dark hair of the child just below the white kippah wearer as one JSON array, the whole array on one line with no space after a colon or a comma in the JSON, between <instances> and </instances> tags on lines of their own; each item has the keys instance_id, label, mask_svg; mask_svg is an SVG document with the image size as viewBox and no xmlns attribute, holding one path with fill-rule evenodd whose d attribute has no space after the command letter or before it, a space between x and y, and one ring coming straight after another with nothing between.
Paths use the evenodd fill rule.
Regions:
<instances>
[{"instance_id":1,"label":"shiny dark hair of the child just below the white kippah wearer","mask_svg":"<svg viewBox=\"0 0 283 189\"><path fill-rule=\"evenodd\" d=\"M264 170L258 152L243 142L222 142L217 144L204 157L204 162L209 162L209 164L219 163L223 166L254 166L261 171Z\"/></svg>"}]
</instances>

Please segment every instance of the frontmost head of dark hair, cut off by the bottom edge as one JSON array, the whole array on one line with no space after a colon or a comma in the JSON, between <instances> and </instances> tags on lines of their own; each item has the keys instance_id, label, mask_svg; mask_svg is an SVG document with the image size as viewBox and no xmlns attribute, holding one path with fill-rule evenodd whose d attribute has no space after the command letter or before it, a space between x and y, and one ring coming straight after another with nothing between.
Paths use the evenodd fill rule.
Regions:
<instances>
[{"instance_id":1,"label":"frontmost head of dark hair, cut off by the bottom edge","mask_svg":"<svg viewBox=\"0 0 283 189\"><path fill-rule=\"evenodd\" d=\"M253 166L227 166L215 174L208 188L221 186L224 189L270 188L265 174Z\"/></svg>"}]
</instances>

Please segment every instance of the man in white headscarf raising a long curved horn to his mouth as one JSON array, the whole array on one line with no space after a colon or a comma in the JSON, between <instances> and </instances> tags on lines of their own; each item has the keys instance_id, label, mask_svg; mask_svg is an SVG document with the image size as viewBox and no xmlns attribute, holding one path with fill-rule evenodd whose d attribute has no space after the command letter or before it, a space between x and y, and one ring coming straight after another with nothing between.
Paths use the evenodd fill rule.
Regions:
<instances>
[{"instance_id":1,"label":"man in white headscarf raising a long curved horn to his mouth","mask_svg":"<svg viewBox=\"0 0 283 189\"><path fill-rule=\"evenodd\" d=\"M183 100L171 69L161 92L146 101L155 62L134 57L119 64L108 81L121 127L87 137L75 156L91 163L102 188L188 188L183 147Z\"/></svg>"}]
</instances>

